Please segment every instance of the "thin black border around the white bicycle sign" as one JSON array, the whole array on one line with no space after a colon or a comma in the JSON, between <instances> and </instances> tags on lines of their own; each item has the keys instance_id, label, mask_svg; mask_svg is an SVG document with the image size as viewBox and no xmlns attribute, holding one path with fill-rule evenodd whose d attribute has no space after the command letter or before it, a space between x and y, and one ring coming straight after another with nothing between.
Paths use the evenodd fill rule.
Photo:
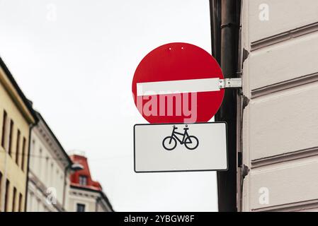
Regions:
<instances>
[{"instance_id":1,"label":"thin black border around the white bicycle sign","mask_svg":"<svg viewBox=\"0 0 318 226\"><path fill-rule=\"evenodd\" d=\"M156 172L212 172L212 171L227 171L229 169L229 148L227 138L227 122L226 121L209 121L196 122L191 124L225 124L225 139L227 148L227 168L226 169L191 169L191 170L164 170L164 171L136 171L136 148L135 148L135 127L136 126L152 126L152 125L186 125L185 123L157 123L157 124L135 124L134 126L134 171L137 174L142 173L156 173Z\"/></svg>"}]
</instances>

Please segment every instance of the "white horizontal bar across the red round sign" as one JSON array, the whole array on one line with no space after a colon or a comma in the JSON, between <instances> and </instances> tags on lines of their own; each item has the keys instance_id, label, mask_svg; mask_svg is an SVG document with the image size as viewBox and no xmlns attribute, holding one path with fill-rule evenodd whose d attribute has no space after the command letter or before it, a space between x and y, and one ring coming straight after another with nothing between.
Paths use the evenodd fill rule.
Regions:
<instances>
[{"instance_id":1,"label":"white horizontal bar across the red round sign","mask_svg":"<svg viewBox=\"0 0 318 226\"><path fill-rule=\"evenodd\" d=\"M137 96L220 91L220 78L137 83Z\"/></svg>"}]
</instances>

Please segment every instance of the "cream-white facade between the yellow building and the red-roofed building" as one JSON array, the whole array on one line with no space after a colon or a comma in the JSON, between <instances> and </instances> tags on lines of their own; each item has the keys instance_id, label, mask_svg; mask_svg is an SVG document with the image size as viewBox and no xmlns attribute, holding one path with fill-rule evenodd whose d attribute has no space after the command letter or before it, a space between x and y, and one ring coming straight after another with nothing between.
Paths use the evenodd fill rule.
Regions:
<instances>
[{"instance_id":1,"label":"cream-white facade between the yellow building and the red-roofed building","mask_svg":"<svg viewBox=\"0 0 318 226\"><path fill-rule=\"evenodd\" d=\"M37 113L37 116L38 125L31 132L27 210L62 212L67 206L67 169L72 166L72 160L41 114Z\"/></svg>"}]
</instances>

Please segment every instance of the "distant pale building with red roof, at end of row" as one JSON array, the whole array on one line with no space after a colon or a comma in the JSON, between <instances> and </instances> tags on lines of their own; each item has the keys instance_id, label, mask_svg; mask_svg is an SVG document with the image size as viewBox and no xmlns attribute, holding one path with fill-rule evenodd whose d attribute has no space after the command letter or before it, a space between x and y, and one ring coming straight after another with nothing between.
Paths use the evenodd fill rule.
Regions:
<instances>
[{"instance_id":1,"label":"distant pale building with red roof, at end of row","mask_svg":"<svg viewBox=\"0 0 318 226\"><path fill-rule=\"evenodd\" d=\"M87 158L81 154L70 156L74 163L84 169L71 175L69 190L69 211L72 212L112 212L113 208L104 194L101 184L93 181Z\"/></svg>"}]
</instances>

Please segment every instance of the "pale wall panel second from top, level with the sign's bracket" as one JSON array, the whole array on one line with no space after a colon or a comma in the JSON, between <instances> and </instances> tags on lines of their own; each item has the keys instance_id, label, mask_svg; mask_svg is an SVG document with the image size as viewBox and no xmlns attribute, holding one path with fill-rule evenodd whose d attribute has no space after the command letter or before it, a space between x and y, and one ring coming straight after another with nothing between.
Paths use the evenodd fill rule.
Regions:
<instances>
[{"instance_id":1,"label":"pale wall panel second from top, level with the sign's bracket","mask_svg":"<svg viewBox=\"0 0 318 226\"><path fill-rule=\"evenodd\" d=\"M317 73L317 56L318 32L252 52L251 90Z\"/></svg>"}]
</instances>

